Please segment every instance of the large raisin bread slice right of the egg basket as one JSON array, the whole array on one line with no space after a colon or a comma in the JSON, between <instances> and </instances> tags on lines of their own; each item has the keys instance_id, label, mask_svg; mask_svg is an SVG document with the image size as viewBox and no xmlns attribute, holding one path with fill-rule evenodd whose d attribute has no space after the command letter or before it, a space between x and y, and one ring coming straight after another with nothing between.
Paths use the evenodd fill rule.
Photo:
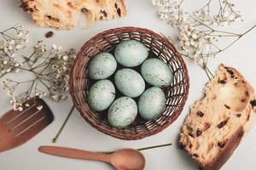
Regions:
<instances>
[{"instance_id":1,"label":"large raisin bread slice right of the egg basket","mask_svg":"<svg viewBox=\"0 0 256 170\"><path fill-rule=\"evenodd\" d=\"M180 144L203 170L218 170L241 142L256 115L253 88L236 69L220 65L206 96L187 116Z\"/></svg>"}]
</instances>

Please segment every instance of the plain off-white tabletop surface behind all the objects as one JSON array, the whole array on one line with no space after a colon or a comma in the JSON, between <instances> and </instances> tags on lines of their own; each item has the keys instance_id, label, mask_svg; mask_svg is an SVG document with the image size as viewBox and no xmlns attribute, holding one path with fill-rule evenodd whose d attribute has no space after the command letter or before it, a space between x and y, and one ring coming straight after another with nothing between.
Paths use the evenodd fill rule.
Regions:
<instances>
[{"instance_id":1,"label":"plain off-white tabletop surface behind all the objects","mask_svg":"<svg viewBox=\"0 0 256 170\"><path fill-rule=\"evenodd\" d=\"M246 31L247 28L256 23L256 1L235 1L241 9L244 16L244 22L234 26L236 31ZM197 2L198 3L198 2ZM49 28L40 28L34 26L31 17L22 12L20 2L18 0L0 0L0 31L16 23L25 26L30 31L30 45L38 40L44 40L47 44L55 43L63 48L81 48L81 46L101 31L119 26L139 26L150 30L161 32L165 35L174 35L175 31L167 26L157 17L156 9L151 5L150 0L127 0L128 16L121 20L98 21L89 30L84 29L85 20L82 20L78 27L72 31L55 31ZM195 3L191 1L191 6ZM52 38L45 39L44 34L53 30L55 35ZM210 65L212 71L215 71L220 63L236 67L248 82L251 82L256 88L256 56L255 56L255 39L256 30L247 34L239 42L236 42L226 52L218 55L217 59L213 59ZM181 116L170 127L162 133L154 135L139 141L123 141L113 139L103 133L99 133L89 124L84 122L78 111L73 113L71 119L67 123L67 127L61 134L57 144L52 144L51 139L61 127L61 123L67 116L72 104L71 99L54 104L47 100L51 110L55 114L55 121L49 127L44 129L42 133L31 141L23 144L15 150L9 150L0 154L0 170L108 170L112 167L105 163L95 161L80 161L74 159L61 158L57 156L44 155L38 152L38 146L42 144L61 145L67 147L78 148L82 150L118 150L126 147L142 148L154 144L166 144L172 142L171 147L160 148L155 150L143 151L147 159L147 170L196 170L198 167L190 160L183 150L177 148L177 138L180 127L185 116L189 113L189 106L201 99L202 89L204 88L207 77L204 71L197 65L186 61L190 76L189 99L184 107ZM9 98L0 90L0 116L11 109L9 106ZM248 133L247 138L240 144L234 155L224 165L222 170L250 170L256 169L255 162L255 141L256 127Z\"/></svg>"}]
</instances>

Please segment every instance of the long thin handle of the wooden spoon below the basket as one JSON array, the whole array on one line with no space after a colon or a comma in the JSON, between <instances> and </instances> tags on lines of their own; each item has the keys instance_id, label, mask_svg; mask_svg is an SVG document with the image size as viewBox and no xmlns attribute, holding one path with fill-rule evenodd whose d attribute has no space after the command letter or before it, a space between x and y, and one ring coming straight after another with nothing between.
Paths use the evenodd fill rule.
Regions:
<instances>
[{"instance_id":1,"label":"long thin handle of the wooden spoon below the basket","mask_svg":"<svg viewBox=\"0 0 256 170\"><path fill-rule=\"evenodd\" d=\"M86 150L75 150L71 148L64 148L64 147L57 147L57 146L40 146L38 150L49 155L93 160L93 161L110 162L110 157L111 157L108 154L100 154L100 153L90 152Z\"/></svg>"}]
</instances>

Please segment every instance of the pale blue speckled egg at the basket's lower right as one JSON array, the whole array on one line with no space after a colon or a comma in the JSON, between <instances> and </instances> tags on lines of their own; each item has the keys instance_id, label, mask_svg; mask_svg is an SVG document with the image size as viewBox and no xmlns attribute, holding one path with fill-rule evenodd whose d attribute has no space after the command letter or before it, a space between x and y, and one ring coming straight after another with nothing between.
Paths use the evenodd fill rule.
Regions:
<instances>
[{"instance_id":1,"label":"pale blue speckled egg at the basket's lower right","mask_svg":"<svg viewBox=\"0 0 256 170\"><path fill-rule=\"evenodd\" d=\"M148 88L138 100L139 114L145 120L159 117L166 109L166 96L161 88Z\"/></svg>"}]
</instances>

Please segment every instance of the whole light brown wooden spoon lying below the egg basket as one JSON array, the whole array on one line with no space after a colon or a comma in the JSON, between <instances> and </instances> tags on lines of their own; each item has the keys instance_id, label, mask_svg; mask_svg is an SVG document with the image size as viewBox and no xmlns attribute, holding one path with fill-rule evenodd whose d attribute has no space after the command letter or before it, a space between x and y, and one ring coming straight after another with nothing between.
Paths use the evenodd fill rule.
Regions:
<instances>
[{"instance_id":1,"label":"whole light brown wooden spoon lying below the egg basket","mask_svg":"<svg viewBox=\"0 0 256 170\"><path fill-rule=\"evenodd\" d=\"M143 154L138 150L132 149L117 150L113 154L102 154L55 146L40 146L38 150L55 156L105 161L112 164L117 170L143 170L145 167Z\"/></svg>"}]
</instances>

